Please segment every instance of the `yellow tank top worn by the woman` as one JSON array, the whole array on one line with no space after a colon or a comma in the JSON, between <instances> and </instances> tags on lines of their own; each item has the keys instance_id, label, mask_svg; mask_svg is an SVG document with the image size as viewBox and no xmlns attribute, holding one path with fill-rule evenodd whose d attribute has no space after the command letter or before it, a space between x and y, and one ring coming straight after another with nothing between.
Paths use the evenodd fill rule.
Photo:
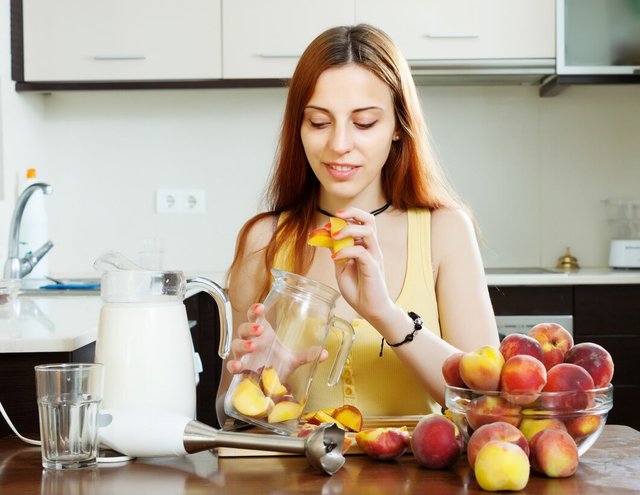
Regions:
<instances>
[{"instance_id":1,"label":"yellow tank top worn by the woman","mask_svg":"<svg viewBox=\"0 0 640 495\"><path fill-rule=\"evenodd\" d=\"M407 271L396 304L405 311L419 314L425 322L424 330L441 336L431 265L431 212L408 210L407 215ZM274 267L290 270L290 259L285 252L278 252ZM305 410L352 404L364 416L421 415L440 411L440 406L391 348L385 345L382 357L379 356L382 338L375 328L361 318L354 319L351 324L356 339L340 382L334 387L326 383L337 348L337 336L332 332L326 345L329 359L316 369ZM429 356L425 355L425 359Z\"/></svg>"}]
</instances>

